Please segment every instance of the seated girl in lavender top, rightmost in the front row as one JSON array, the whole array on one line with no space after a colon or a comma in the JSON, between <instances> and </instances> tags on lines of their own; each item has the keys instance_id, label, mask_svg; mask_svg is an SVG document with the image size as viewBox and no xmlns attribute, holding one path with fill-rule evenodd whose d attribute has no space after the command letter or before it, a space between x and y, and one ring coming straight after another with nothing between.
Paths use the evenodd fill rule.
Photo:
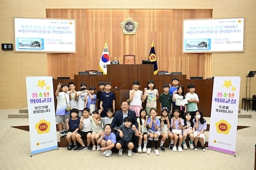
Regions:
<instances>
[{"instance_id":1,"label":"seated girl in lavender top, rightmost in the front row","mask_svg":"<svg viewBox=\"0 0 256 170\"><path fill-rule=\"evenodd\" d=\"M198 151L197 143L199 140L202 145L202 150L206 151L206 149L204 148L204 143L205 143L204 131L206 130L207 124L206 124L206 120L203 118L202 111L199 111L199 110L196 111L195 118L193 119L193 122L194 122L193 130L195 130L195 132L194 132L195 148L194 149L195 149L195 151Z\"/></svg>"}]
</instances>

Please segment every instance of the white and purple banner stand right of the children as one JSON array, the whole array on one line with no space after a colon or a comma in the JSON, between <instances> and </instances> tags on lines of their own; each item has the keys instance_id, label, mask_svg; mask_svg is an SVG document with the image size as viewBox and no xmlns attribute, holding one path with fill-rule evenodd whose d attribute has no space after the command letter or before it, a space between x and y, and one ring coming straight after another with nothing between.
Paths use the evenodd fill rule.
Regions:
<instances>
[{"instance_id":1,"label":"white and purple banner stand right of the children","mask_svg":"<svg viewBox=\"0 0 256 170\"><path fill-rule=\"evenodd\" d=\"M236 157L241 77L214 77L208 148Z\"/></svg>"}]
</instances>

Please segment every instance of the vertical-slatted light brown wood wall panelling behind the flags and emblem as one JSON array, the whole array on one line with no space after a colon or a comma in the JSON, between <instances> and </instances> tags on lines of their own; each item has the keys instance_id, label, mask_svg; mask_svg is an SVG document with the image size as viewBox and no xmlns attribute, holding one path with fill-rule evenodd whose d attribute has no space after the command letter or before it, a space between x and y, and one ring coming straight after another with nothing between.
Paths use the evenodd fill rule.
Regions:
<instances>
[{"instance_id":1,"label":"vertical-slatted light brown wood wall panelling behind the flags and emblem","mask_svg":"<svg viewBox=\"0 0 256 170\"><path fill-rule=\"evenodd\" d=\"M147 59L154 41L159 70L182 71L190 77L210 77L211 54L182 53L182 20L210 18L212 9L47 9L49 18L76 19L75 54L47 54L47 74L69 76L88 69L99 70L104 41L111 60L123 63L123 55ZM136 35L123 35L120 23L132 17L139 23Z\"/></svg>"}]
</instances>

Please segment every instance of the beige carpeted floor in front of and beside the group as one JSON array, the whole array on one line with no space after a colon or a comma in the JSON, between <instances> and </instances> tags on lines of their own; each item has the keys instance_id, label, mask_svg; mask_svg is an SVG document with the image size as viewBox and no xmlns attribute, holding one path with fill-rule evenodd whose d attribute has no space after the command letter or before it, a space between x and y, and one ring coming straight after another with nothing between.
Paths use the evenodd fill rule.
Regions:
<instances>
[{"instance_id":1,"label":"beige carpeted floor in front of and beside the group","mask_svg":"<svg viewBox=\"0 0 256 170\"><path fill-rule=\"evenodd\" d=\"M256 112L252 118L239 118L238 125L246 126L237 131L236 157L220 152L207 150L198 152L183 150L173 152L166 148L160 156L134 154L127 157L113 154L106 158L100 152L84 150L81 152L67 151L67 148L58 148L30 157L29 132L12 128L13 126L27 126L27 118L8 118L15 109L0 110L0 138L1 154L0 169L254 169L256 143ZM243 113L243 110L241 111ZM210 118L207 118L209 124ZM205 134L208 138L208 133Z\"/></svg>"}]
</instances>

